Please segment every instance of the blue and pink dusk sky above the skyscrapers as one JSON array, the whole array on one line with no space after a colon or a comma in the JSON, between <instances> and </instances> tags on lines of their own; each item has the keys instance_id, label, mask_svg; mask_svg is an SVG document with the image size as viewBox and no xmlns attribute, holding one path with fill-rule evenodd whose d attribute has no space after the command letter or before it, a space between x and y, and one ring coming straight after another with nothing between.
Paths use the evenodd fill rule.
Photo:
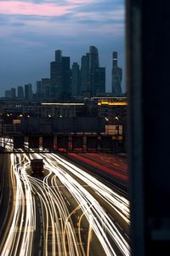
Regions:
<instances>
[{"instance_id":1,"label":"blue and pink dusk sky above the skyscrapers","mask_svg":"<svg viewBox=\"0 0 170 256\"><path fill-rule=\"evenodd\" d=\"M0 0L0 96L49 78L54 50L81 63L94 45L111 91L111 55L118 52L125 91L124 0Z\"/></svg>"}]
</instances>

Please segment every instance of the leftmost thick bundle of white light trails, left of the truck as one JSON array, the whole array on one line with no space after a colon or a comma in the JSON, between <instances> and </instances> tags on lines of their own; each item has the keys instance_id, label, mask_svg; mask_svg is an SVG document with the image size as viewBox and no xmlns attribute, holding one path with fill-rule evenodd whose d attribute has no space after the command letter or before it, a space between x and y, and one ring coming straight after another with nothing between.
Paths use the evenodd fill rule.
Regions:
<instances>
[{"instance_id":1,"label":"leftmost thick bundle of white light trails, left of the truck","mask_svg":"<svg viewBox=\"0 0 170 256\"><path fill-rule=\"evenodd\" d=\"M33 230L35 228L31 186L25 173L21 172L20 174L20 168L17 168L14 162L14 154L10 154L10 161L10 174L14 192L13 217L6 229L6 241L1 255L31 255Z\"/></svg>"}]
</instances>

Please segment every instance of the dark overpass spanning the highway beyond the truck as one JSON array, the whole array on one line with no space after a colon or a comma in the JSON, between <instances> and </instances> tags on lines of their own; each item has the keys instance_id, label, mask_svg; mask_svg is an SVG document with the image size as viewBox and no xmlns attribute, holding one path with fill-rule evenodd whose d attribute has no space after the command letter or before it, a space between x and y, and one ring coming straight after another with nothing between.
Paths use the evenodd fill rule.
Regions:
<instances>
[{"instance_id":1,"label":"dark overpass spanning the highway beyond the truck","mask_svg":"<svg viewBox=\"0 0 170 256\"><path fill-rule=\"evenodd\" d=\"M13 124L2 122L0 136L12 139L12 148L24 151L113 151L122 152L122 129L115 125L108 132L105 119L97 117L16 119ZM105 127L107 128L105 130ZM3 146L8 140L3 140Z\"/></svg>"}]
</instances>

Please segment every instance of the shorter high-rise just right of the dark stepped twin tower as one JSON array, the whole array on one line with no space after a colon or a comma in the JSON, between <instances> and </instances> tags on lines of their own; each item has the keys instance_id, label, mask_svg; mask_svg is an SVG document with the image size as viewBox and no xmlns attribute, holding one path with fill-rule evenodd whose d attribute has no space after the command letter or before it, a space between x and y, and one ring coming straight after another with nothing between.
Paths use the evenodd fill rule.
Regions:
<instances>
[{"instance_id":1,"label":"shorter high-rise just right of the dark stepped twin tower","mask_svg":"<svg viewBox=\"0 0 170 256\"><path fill-rule=\"evenodd\" d=\"M73 62L71 69L71 95L79 95L80 90L80 68L77 62Z\"/></svg>"}]
</instances>

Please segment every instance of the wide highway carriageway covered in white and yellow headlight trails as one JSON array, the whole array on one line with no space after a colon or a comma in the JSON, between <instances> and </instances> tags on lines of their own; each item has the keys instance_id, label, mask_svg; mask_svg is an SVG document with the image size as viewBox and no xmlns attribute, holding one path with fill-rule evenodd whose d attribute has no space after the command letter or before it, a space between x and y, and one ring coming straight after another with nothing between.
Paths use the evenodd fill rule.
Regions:
<instances>
[{"instance_id":1,"label":"wide highway carriageway covered in white and yellow headlight trails","mask_svg":"<svg viewBox=\"0 0 170 256\"><path fill-rule=\"evenodd\" d=\"M44 177L31 177L42 158ZM130 255L129 203L57 154L10 154L14 201L1 255Z\"/></svg>"}]
</instances>

